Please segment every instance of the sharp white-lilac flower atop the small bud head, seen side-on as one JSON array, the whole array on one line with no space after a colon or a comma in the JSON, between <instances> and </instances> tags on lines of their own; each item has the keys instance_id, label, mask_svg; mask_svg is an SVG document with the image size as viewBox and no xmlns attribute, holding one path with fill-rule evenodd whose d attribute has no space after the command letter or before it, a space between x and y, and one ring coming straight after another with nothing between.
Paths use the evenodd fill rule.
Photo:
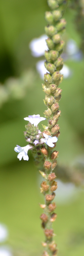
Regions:
<instances>
[{"instance_id":1,"label":"sharp white-lilac flower atop the small bud head, seen side-on","mask_svg":"<svg viewBox=\"0 0 84 256\"><path fill-rule=\"evenodd\" d=\"M29 117L25 117L24 120L29 121L34 126L37 126L41 121L45 120L46 118L40 117L40 115L33 115Z\"/></svg>"}]
</instances>

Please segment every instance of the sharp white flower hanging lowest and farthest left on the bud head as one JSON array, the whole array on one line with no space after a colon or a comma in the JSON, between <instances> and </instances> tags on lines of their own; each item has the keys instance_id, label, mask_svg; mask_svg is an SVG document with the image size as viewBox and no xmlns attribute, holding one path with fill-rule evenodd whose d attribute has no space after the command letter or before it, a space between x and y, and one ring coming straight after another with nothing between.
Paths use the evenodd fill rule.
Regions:
<instances>
[{"instance_id":1,"label":"sharp white flower hanging lowest and farthest left on the bud head","mask_svg":"<svg viewBox=\"0 0 84 256\"><path fill-rule=\"evenodd\" d=\"M32 148L32 146L31 145L27 145L27 146L25 146L25 147L20 147L20 146L18 146L18 145L16 145L16 147L14 148L14 150L16 151L16 152L19 152L19 154L17 155L17 158L19 158L19 160L21 160L22 159L22 157L23 157L23 160L29 160L29 157L28 157L28 155L27 155L27 152L28 152L28 150L29 149L31 149Z\"/></svg>"}]
</instances>

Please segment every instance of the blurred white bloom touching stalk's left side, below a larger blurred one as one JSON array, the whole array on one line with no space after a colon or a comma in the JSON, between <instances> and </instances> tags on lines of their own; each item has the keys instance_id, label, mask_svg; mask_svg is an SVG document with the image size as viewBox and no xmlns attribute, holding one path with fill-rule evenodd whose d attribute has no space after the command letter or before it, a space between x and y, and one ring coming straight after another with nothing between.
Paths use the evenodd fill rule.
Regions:
<instances>
[{"instance_id":1,"label":"blurred white bloom touching stalk's left side, below a larger blurred one","mask_svg":"<svg viewBox=\"0 0 84 256\"><path fill-rule=\"evenodd\" d=\"M39 73L41 79L43 79L44 77L44 74L46 74L46 72L48 72L48 70L45 68L44 66L44 61L45 60L39 60L37 63L36 63L36 69L37 69L37 72ZM49 72L48 72L49 73Z\"/></svg>"}]
</instances>

